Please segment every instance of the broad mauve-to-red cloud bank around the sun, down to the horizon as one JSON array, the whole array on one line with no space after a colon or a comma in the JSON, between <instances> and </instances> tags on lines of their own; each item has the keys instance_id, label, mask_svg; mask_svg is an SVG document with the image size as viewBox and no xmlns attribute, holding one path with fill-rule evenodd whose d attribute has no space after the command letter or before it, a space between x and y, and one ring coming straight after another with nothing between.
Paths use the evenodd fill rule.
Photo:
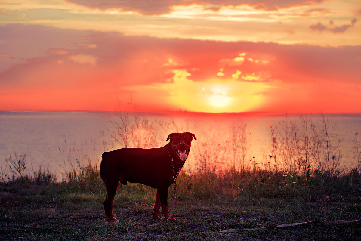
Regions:
<instances>
[{"instance_id":1,"label":"broad mauve-to-red cloud bank around the sun, down to the horizon","mask_svg":"<svg viewBox=\"0 0 361 241\"><path fill-rule=\"evenodd\" d=\"M0 32L8 27L0 26ZM12 43L14 49L26 45L34 52L22 62L8 55L1 58L6 69L0 72L0 110L114 110L117 98L126 102L131 95L140 111L335 112L342 106L361 111L355 104L361 98L359 46L226 43L14 27L24 34L31 31L33 39L10 31L4 44ZM39 32L58 37L40 45L48 36ZM84 44L68 44L77 40ZM88 45L96 47L84 47Z\"/></svg>"}]
</instances>

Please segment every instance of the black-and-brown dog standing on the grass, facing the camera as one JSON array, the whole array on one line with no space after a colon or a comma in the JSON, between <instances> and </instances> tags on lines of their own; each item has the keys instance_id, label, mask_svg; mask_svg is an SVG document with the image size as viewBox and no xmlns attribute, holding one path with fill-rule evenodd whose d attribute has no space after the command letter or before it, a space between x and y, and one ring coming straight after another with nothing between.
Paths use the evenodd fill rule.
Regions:
<instances>
[{"instance_id":1,"label":"black-and-brown dog standing on the grass, facing the camera","mask_svg":"<svg viewBox=\"0 0 361 241\"><path fill-rule=\"evenodd\" d=\"M104 152L100 177L106 187L104 210L108 222L118 222L113 217L114 197L119 183L127 185L127 182L156 188L152 218L162 219L158 216L162 207L164 218L168 219L168 188L186 162L193 138L197 140L190 132L171 133L166 140L169 143L160 148L122 148Z\"/></svg>"}]
</instances>

